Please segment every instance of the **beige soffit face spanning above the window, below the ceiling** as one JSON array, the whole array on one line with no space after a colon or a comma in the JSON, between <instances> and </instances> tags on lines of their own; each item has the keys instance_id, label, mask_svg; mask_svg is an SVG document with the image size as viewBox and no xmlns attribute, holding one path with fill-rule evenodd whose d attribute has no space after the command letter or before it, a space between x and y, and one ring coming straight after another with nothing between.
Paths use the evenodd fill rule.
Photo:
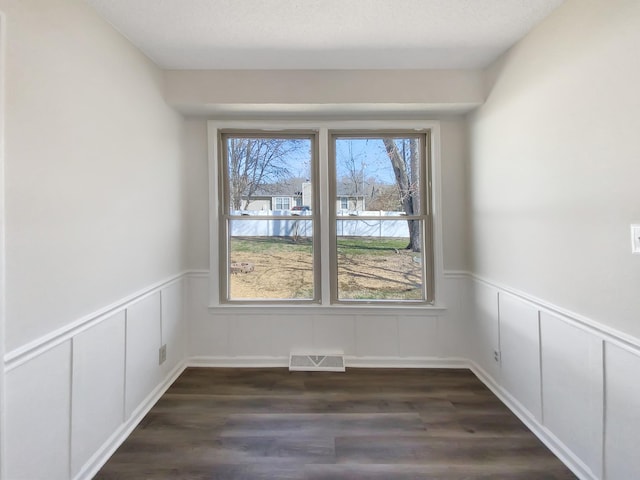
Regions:
<instances>
[{"instance_id":1,"label":"beige soffit face spanning above the window, below the ceiling","mask_svg":"<svg viewBox=\"0 0 640 480\"><path fill-rule=\"evenodd\" d=\"M478 70L170 70L170 105L189 114L423 116L484 99Z\"/></svg>"}]
</instances>

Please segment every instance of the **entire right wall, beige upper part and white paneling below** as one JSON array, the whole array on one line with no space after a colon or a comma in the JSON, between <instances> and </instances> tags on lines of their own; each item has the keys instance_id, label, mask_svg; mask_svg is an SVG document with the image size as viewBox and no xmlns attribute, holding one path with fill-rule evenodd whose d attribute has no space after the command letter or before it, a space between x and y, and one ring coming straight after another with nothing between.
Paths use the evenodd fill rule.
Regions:
<instances>
[{"instance_id":1,"label":"entire right wall, beige upper part and white paneling below","mask_svg":"<svg viewBox=\"0 0 640 480\"><path fill-rule=\"evenodd\" d=\"M639 22L567 0L469 116L469 355L585 479L640 478Z\"/></svg>"}]
</instances>

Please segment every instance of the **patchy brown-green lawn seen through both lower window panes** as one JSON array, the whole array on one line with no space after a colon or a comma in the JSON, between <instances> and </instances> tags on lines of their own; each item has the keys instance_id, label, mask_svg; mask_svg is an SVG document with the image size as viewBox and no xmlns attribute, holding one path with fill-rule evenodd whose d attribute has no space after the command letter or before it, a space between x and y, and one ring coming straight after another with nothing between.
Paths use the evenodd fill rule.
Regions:
<instances>
[{"instance_id":1,"label":"patchy brown-green lawn seen through both lower window panes","mask_svg":"<svg viewBox=\"0 0 640 480\"><path fill-rule=\"evenodd\" d=\"M421 254L406 250L408 238L339 237L341 300L422 299ZM313 298L313 244L309 238L234 237L231 261L254 271L231 275L231 299Z\"/></svg>"}]
</instances>

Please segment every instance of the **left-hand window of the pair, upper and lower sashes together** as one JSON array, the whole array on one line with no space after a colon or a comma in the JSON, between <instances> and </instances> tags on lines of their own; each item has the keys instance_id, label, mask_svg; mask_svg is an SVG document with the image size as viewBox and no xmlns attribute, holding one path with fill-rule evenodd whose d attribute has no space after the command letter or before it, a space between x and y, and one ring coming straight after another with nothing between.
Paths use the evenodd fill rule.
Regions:
<instances>
[{"instance_id":1,"label":"left-hand window of the pair, upper and lower sashes together","mask_svg":"<svg viewBox=\"0 0 640 480\"><path fill-rule=\"evenodd\" d=\"M315 219L289 210L302 183L315 177L316 143L313 133L221 133L220 264L227 266L221 299L319 298ZM264 195L273 198L268 215L242 210Z\"/></svg>"}]
</instances>

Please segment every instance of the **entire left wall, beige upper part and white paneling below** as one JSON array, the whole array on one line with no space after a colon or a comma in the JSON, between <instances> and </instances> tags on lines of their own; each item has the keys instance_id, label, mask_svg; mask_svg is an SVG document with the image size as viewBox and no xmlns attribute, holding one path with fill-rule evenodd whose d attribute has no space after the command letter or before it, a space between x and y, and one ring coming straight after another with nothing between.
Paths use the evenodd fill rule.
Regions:
<instances>
[{"instance_id":1,"label":"entire left wall, beige upper part and white paneling below","mask_svg":"<svg viewBox=\"0 0 640 480\"><path fill-rule=\"evenodd\" d=\"M85 2L0 13L0 478L90 478L183 367L183 119L161 71Z\"/></svg>"}]
</instances>

